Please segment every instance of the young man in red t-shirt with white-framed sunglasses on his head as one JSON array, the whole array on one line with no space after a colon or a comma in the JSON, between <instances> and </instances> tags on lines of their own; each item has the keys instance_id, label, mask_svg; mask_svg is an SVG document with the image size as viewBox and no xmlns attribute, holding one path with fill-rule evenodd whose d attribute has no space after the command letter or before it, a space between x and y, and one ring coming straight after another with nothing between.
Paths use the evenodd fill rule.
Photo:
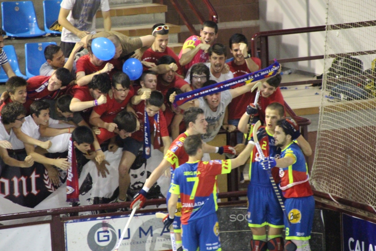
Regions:
<instances>
[{"instance_id":1,"label":"young man in red t-shirt with white-framed sunglasses on his head","mask_svg":"<svg viewBox=\"0 0 376 251\"><path fill-rule=\"evenodd\" d=\"M177 71L176 73L183 76L184 71L179 64L179 58L176 56L173 50L171 50L168 45L168 26L163 23L158 23L153 26L152 35L155 37L155 41L152 47L144 52L141 58L144 64L144 70L148 70L150 67L154 67L161 56L169 55L173 57L176 61ZM147 67L147 66L149 67Z\"/></svg>"}]
</instances>

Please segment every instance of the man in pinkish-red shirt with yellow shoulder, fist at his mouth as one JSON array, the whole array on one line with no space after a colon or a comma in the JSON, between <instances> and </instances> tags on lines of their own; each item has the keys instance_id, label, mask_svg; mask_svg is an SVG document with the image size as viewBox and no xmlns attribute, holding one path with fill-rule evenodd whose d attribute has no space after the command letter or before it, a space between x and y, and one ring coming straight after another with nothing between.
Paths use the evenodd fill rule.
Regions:
<instances>
[{"instance_id":1,"label":"man in pinkish-red shirt with yellow shoulder, fist at his mouth","mask_svg":"<svg viewBox=\"0 0 376 251\"><path fill-rule=\"evenodd\" d=\"M179 54L179 63L188 71L196 63L209 61L208 49L218 37L218 26L213 21L205 21L200 30L200 36L187 38Z\"/></svg>"}]
</instances>

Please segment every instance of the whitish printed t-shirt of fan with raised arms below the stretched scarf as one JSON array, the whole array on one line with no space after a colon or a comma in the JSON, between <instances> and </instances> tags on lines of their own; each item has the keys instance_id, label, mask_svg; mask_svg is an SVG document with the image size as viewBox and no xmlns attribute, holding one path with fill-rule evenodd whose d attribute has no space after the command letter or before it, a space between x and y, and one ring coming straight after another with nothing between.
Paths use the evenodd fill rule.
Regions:
<instances>
[{"instance_id":1,"label":"whitish printed t-shirt of fan with raised arms below the stretched scarf","mask_svg":"<svg viewBox=\"0 0 376 251\"><path fill-rule=\"evenodd\" d=\"M217 136L218 131L221 129L223 119L224 119L224 112L226 111L227 105L232 100L232 95L229 90L221 92L221 102L217 107L217 111L212 111L209 108L208 102L204 99L204 97L199 98L200 105L199 107L204 110L206 122L208 122L208 126L206 127L206 134L202 136L202 140L204 142L209 142Z\"/></svg>"}]
</instances>

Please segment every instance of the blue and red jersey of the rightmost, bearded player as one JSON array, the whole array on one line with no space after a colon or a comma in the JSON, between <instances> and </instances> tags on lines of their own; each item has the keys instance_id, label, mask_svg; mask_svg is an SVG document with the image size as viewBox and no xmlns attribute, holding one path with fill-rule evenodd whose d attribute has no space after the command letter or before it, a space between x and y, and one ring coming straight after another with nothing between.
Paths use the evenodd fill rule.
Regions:
<instances>
[{"instance_id":1,"label":"blue and red jersey of the rightmost, bearded player","mask_svg":"<svg viewBox=\"0 0 376 251\"><path fill-rule=\"evenodd\" d=\"M302 150L297 143L292 142L285 149L281 149L280 158L291 157L294 163L291 166L280 168L279 184L285 198L306 197L313 195L309 186L308 166Z\"/></svg>"}]
</instances>

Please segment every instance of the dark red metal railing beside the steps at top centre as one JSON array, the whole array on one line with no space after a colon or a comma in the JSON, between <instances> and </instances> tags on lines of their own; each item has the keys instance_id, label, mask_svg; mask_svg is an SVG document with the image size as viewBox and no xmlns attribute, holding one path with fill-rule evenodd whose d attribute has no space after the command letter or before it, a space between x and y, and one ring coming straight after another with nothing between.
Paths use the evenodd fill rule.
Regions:
<instances>
[{"instance_id":1,"label":"dark red metal railing beside the steps at top centre","mask_svg":"<svg viewBox=\"0 0 376 251\"><path fill-rule=\"evenodd\" d=\"M192 35L199 35L199 32L193 27L193 24L188 21L188 17L183 12L183 9L181 8L178 0L170 0L172 5L174 6L176 12L179 14L180 18L182 18L184 24L188 27L188 30L191 32ZM206 21L206 19L201 14L200 10L197 8L196 5L191 0L185 0L186 3L190 6L191 10L193 11L194 15L197 17L197 19L202 24ZM202 2L206 5L209 11L209 20L214 21L215 23L218 23L218 14L215 11L213 5L209 0L202 0Z\"/></svg>"}]
</instances>

